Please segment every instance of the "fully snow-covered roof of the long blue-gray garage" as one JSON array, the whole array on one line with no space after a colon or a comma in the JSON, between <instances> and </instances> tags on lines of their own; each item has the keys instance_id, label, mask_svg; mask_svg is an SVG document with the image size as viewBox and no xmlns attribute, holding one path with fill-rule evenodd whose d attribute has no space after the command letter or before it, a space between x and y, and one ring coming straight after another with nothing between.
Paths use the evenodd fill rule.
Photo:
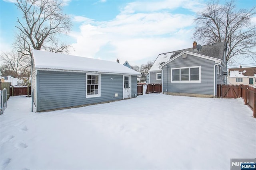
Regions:
<instances>
[{"instance_id":1,"label":"fully snow-covered roof of the long blue-gray garage","mask_svg":"<svg viewBox=\"0 0 256 170\"><path fill-rule=\"evenodd\" d=\"M91 59L61 53L33 50L33 59L37 70L68 70L79 72L99 72L140 75L122 64L113 61Z\"/></svg>"}]
</instances>

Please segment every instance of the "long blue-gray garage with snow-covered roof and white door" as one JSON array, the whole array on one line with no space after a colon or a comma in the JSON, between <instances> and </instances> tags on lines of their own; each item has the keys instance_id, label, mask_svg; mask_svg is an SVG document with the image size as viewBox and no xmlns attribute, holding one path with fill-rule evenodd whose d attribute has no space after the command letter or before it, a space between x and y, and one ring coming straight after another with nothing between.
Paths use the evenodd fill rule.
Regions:
<instances>
[{"instance_id":1,"label":"long blue-gray garage with snow-covered roof and white door","mask_svg":"<svg viewBox=\"0 0 256 170\"><path fill-rule=\"evenodd\" d=\"M87 106L137 96L140 73L122 64L33 50L36 111Z\"/></svg>"}]
</instances>

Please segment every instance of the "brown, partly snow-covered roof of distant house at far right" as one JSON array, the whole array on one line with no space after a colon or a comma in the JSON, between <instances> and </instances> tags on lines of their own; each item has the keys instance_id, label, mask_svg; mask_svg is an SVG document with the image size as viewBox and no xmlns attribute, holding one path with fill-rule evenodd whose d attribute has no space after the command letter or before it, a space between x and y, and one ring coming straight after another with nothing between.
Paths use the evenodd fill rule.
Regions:
<instances>
[{"instance_id":1,"label":"brown, partly snow-covered roof of distant house at far right","mask_svg":"<svg viewBox=\"0 0 256 170\"><path fill-rule=\"evenodd\" d=\"M229 77L253 77L256 76L256 67L229 68Z\"/></svg>"}]
</instances>

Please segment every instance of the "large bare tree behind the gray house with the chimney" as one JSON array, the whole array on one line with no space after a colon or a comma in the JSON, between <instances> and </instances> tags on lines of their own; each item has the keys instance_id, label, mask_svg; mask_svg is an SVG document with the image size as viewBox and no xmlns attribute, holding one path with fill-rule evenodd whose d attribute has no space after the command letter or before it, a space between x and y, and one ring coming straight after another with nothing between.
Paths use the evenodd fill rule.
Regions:
<instances>
[{"instance_id":1,"label":"large bare tree behind the gray house with the chimney","mask_svg":"<svg viewBox=\"0 0 256 170\"><path fill-rule=\"evenodd\" d=\"M252 16L256 14L255 9L236 10L234 0L226 1L224 5L212 0L195 19L197 26L194 38L203 43L224 41L226 64L234 62L236 57L249 57L256 61L256 27L251 23Z\"/></svg>"}]
</instances>

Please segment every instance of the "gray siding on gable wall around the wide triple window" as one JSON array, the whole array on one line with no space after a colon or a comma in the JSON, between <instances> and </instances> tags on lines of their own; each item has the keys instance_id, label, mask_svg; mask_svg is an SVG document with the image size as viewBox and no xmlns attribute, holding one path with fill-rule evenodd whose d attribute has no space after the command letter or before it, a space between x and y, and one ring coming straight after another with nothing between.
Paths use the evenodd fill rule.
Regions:
<instances>
[{"instance_id":1,"label":"gray siding on gable wall around the wide triple window","mask_svg":"<svg viewBox=\"0 0 256 170\"><path fill-rule=\"evenodd\" d=\"M187 58L178 57L174 61L163 67L163 92L189 93L189 94L207 94L213 95L214 67L215 62L208 59L202 59L193 55L187 55ZM171 68L201 66L200 83L172 83Z\"/></svg>"}]
</instances>

